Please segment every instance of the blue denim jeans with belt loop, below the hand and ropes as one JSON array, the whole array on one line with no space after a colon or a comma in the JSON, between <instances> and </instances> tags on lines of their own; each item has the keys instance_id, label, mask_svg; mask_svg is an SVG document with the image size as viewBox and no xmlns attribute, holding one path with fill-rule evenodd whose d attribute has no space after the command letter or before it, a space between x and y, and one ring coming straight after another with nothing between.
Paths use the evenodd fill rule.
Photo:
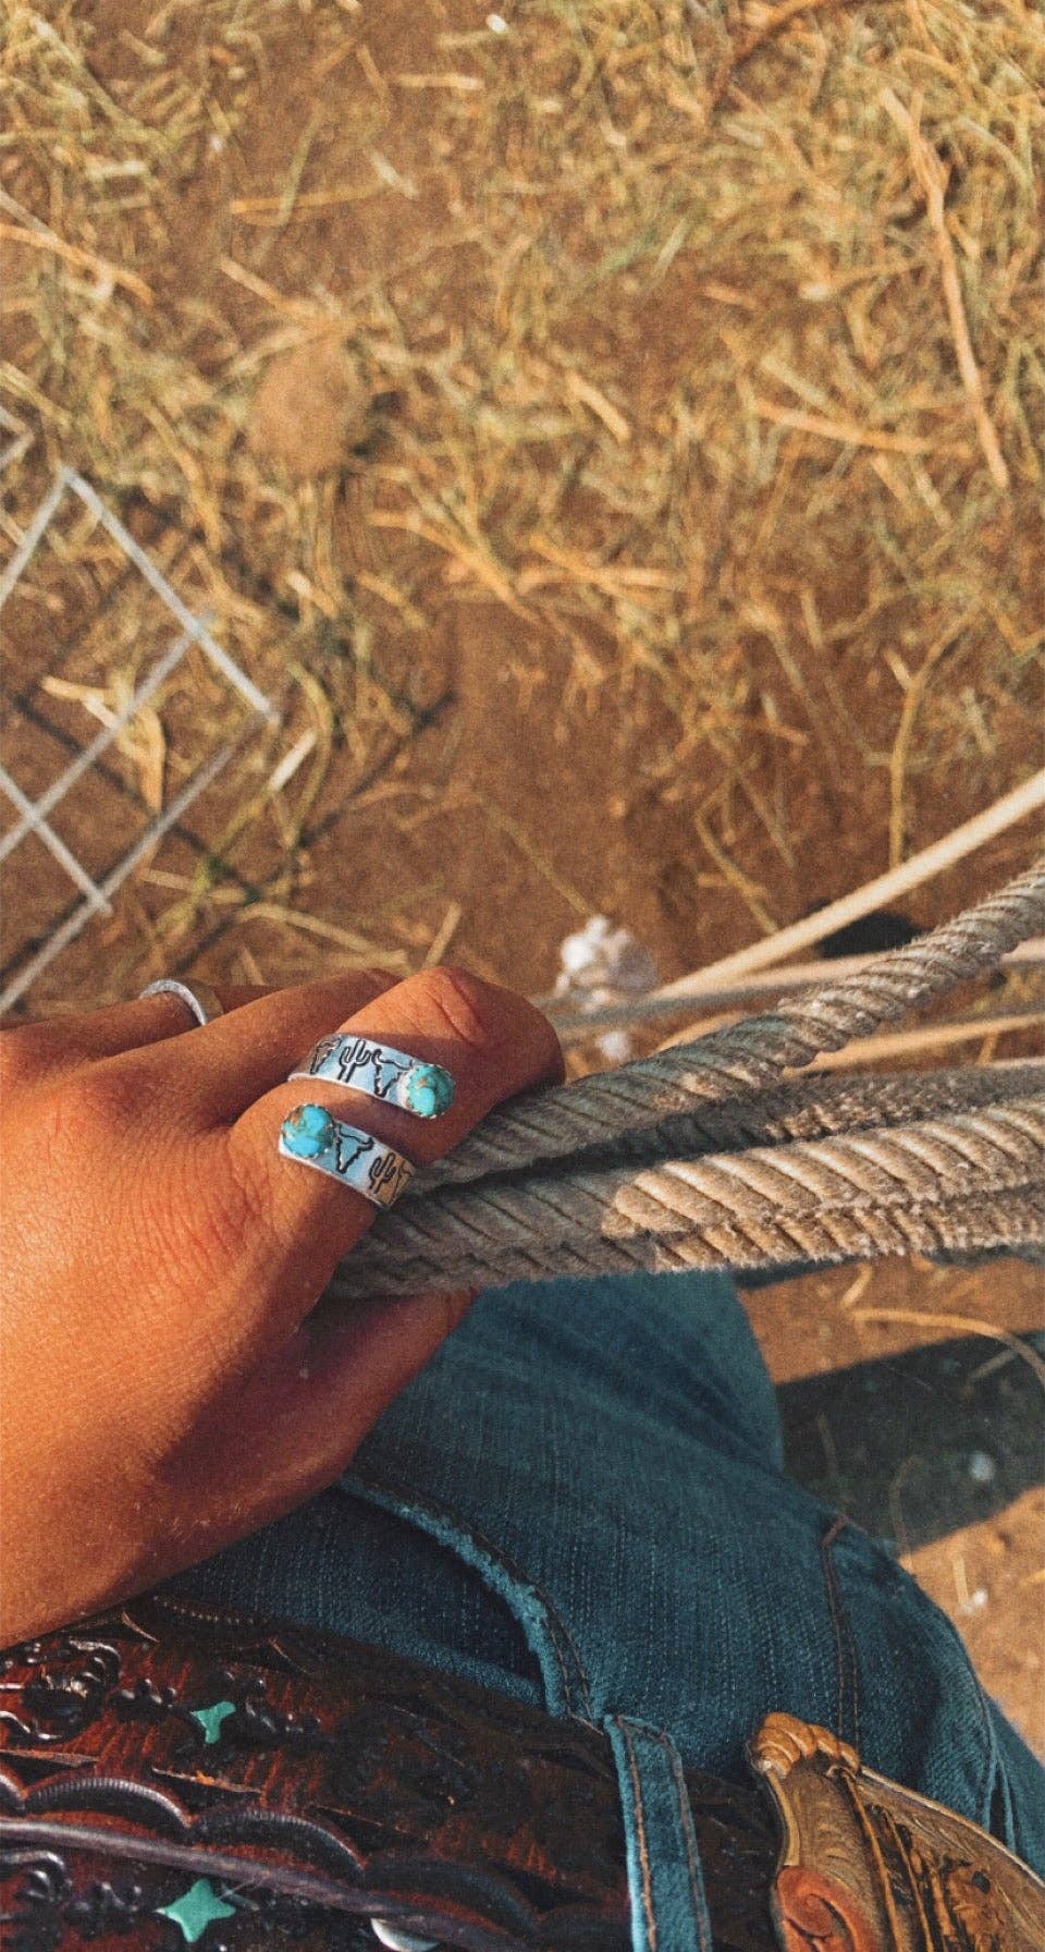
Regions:
<instances>
[{"instance_id":1,"label":"blue denim jeans with belt loop, below the hand and ropes","mask_svg":"<svg viewBox=\"0 0 1045 1952\"><path fill-rule=\"evenodd\" d=\"M784 1476L719 1275L485 1290L337 1485L172 1591L602 1726L653 1862L641 1901L632 1866L638 1952L657 1927L673 1952L708 1931L677 1765L751 1780L745 1741L774 1708L1045 1874L1045 1770L938 1606Z\"/></svg>"}]
</instances>

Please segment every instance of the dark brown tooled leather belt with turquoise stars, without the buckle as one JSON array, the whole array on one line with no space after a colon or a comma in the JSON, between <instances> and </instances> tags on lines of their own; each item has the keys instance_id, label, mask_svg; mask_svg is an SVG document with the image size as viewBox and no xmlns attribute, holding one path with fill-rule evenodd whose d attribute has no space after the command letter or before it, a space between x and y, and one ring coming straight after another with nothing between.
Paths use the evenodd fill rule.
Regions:
<instances>
[{"instance_id":1,"label":"dark brown tooled leather belt with turquoise stars, without the buckle","mask_svg":"<svg viewBox=\"0 0 1045 1952\"><path fill-rule=\"evenodd\" d=\"M203 1952L376 1944L628 1952L608 1739L331 1634L148 1599L0 1657L12 1952L172 1948L168 1907L234 1891ZM686 1772L716 1952L776 1944L756 1790Z\"/></svg>"}]
</instances>

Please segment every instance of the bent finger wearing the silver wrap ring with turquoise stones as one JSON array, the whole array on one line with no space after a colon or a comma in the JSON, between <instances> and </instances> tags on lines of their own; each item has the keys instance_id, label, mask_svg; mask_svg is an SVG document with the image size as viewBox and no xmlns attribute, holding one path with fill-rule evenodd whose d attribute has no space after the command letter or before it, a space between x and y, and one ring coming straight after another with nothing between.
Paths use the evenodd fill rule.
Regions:
<instances>
[{"instance_id":1,"label":"bent finger wearing the silver wrap ring with turquoise stones","mask_svg":"<svg viewBox=\"0 0 1045 1952\"><path fill-rule=\"evenodd\" d=\"M228 1132L213 1132L201 1142L203 1187L218 1204L222 1197L228 1202L224 1224L238 1234L240 1253L255 1263L261 1257L257 1273L283 1323L304 1318L376 1212L355 1189L312 1171L300 1159L281 1158L283 1120L302 1099L372 1134L413 1163L429 1163L450 1152L503 1099L526 1085L560 1083L563 1078L560 1040L548 1019L513 990L458 968L407 976L339 1029L441 1064L456 1091L450 1109L427 1120L318 1078L281 1083L250 1105Z\"/></svg>"}]
</instances>

